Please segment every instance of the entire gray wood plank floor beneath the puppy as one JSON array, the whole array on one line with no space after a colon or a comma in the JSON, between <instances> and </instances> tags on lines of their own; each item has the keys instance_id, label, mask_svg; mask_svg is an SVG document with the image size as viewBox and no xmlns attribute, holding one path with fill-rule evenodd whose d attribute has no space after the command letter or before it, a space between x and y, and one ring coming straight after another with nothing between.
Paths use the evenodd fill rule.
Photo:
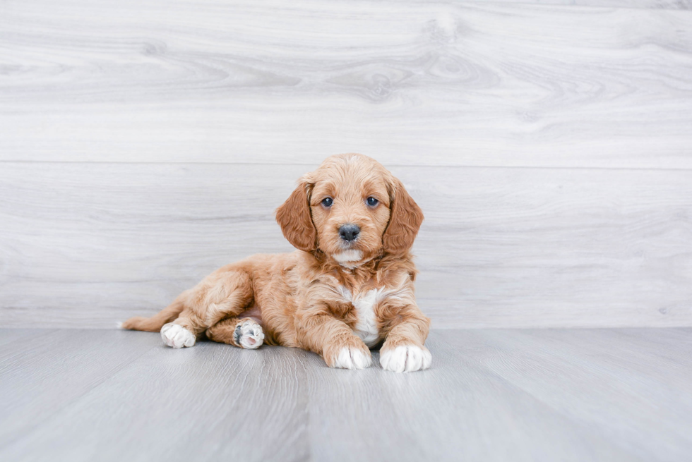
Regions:
<instances>
[{"instance_id":1,"label":"entire gray wood plank floor beneath the puppy","mask_svg":"<svg viewBox=\"0 0 692 462\"><path fill-rule=\"evenodd\" d=\"M431 370L0 330L3 461L685 461L692 329L433 331ZM377 359L377 354L375 354Z\"/></svg>"}]
</instances>

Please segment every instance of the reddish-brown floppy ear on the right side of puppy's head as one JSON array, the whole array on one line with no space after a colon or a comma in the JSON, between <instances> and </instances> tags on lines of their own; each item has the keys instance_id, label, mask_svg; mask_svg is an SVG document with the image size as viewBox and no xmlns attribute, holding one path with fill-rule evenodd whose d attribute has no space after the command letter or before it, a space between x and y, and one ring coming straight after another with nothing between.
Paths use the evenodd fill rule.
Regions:
<instances>
[{"instance_id":1,"label":"reddish-brown floppy ear on the right side of puppy's head","mask_svg":"<svg viewBox=\"0 0 692 462\"><path fill-rule=\"evenodd\" d=\"M382 243L387 252L402 253L413 245L423 222L423 211L397 178L390 183L389 200L391 215Z\"/></svg>"}]
</instances>

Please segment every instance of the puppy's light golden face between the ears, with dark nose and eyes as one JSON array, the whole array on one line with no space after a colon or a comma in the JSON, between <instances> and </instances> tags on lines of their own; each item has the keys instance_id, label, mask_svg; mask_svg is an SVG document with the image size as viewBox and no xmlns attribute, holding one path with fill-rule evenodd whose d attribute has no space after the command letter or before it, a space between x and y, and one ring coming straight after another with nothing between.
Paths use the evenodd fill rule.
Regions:
<instances>
[{"instance_id":1,"label":"puppy's light golden face between the ears, with dark nose and eyes","mask_svg":"<svg viewBox=\"0 0 692 462\"><path fill-rule=\"evenodd\" d=\"M391 214L386 177L358 156L329 159L314 172L310 209L320 250L345 266L380 252Z\"/></svg>"}]
</instances>

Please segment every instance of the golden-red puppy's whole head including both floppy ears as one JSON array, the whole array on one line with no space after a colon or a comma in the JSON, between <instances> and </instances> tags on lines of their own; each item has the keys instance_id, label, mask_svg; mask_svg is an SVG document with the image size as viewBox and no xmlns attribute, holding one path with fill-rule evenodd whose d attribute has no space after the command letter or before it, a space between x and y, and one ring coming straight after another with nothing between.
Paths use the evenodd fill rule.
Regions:
<instances>
[{"instance_id":1,"label":"golden-red puppy's whole head including both floppy ears","mask_svg":"<svg viewBox=\"0 0 692 462\"><path fill-rule=\"evenodd\" d=\"M409 250L423 213L402 183L374 159L339 154L300 179L276 219L296 248L319 249L354 267L382 252Z\"/></svg>"}]
</instances>

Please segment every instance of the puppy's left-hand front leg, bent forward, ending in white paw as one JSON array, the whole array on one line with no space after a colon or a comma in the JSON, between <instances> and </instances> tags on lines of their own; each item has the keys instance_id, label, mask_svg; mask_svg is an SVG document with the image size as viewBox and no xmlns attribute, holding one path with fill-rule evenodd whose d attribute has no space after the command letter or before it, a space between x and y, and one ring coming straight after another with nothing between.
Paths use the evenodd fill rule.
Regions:
<instances>
[{"instance_id":1,"label":"puppy's left-hand front leg, bent forward, ending in white paw","mask_svg":"<svg viewBox=\"0 0 692 462\"><path fill-rule=\"evenodd\" d=\"M328 314L307 315L297 322L302 347L322 355L329 367L364 369L372 364L370 349L350 327Z\"/></svg>"}]
</instances>

